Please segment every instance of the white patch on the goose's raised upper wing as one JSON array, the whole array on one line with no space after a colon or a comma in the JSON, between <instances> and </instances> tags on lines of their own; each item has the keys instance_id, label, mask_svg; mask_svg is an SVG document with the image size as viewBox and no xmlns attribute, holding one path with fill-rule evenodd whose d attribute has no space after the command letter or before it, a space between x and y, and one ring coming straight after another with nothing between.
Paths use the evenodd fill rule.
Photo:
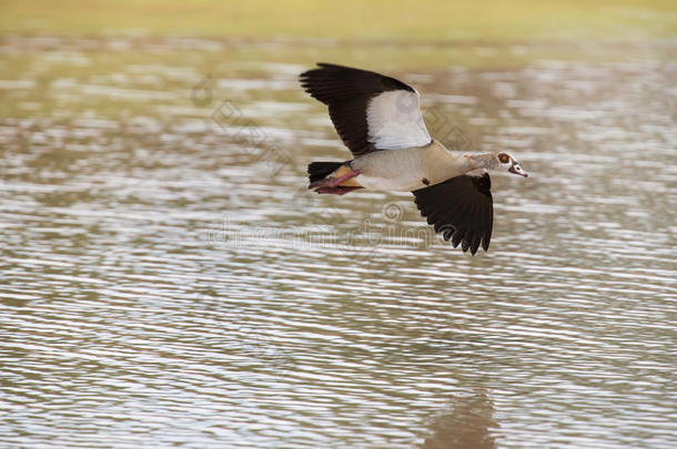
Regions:
<instances>
[{"instance_id":1,"label":"white patch on the goose's raised upper wing","mask_svg":"<svg viewBox=\"0 0 677 449\"><path fill-rule=\"evenodd\" d=\"M432 139L423 123L418 92L387 91L366 109L367 140L380 150L423 146Z\"/></svg>"}]
</instances>

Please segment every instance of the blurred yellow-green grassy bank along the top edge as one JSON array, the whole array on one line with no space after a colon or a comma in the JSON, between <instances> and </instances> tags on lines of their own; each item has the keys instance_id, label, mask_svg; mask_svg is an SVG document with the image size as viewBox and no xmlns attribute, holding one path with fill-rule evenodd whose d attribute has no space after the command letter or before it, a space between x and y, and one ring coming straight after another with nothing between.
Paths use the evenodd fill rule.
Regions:
<instances>
[{"instance_id":1,"label":"blurred yellow-green grassy bank along the top edge","mask_svg":"<svg viewBox=\"0 0 677 449\"><path fill-rule=\"evenodd\" d=\"M677 37L669 0L8 0L0 34L204 37L344 42L524 42Z\"/></svg>"}]
</instances>

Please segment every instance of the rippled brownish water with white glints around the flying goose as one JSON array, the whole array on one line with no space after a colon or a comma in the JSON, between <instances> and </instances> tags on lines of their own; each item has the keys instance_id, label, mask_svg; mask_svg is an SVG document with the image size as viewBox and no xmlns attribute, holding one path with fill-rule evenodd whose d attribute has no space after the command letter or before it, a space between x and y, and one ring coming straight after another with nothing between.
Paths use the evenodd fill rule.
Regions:
<instances>
[{"instance_id":1,"label":"rippled brownish water with white glints around the flying goose","mask_svg":"<svg viewBox=\"0 0 677 449\"><path fill-rule=\"evenodd\" d=\"M307 193L347 157L307 65L37 41L0 80L2 446L677 446L674 61L392 72L531 174L471 257L408 194Z\"/></svg>"}]
</instances>

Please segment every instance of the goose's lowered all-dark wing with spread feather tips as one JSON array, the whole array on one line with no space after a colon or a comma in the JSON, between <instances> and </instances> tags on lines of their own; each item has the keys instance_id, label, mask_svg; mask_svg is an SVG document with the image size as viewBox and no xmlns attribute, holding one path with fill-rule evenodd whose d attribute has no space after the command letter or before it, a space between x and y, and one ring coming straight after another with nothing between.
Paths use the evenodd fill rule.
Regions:
<instances>
[{"instance_id":1,"label":"goose's lowered all-dark wing with spread feather tips","mask_svg":"<svg viewBox=\"0 0 677 449\"><path fill-rule=\"evenodd\" d=\"M489 248L494 223L492 180L488 173L478 176L461 175L430 187L412 192L421 215L451 239L454 247L474 255L482 244Z\"/></svg>"}]
</instances>

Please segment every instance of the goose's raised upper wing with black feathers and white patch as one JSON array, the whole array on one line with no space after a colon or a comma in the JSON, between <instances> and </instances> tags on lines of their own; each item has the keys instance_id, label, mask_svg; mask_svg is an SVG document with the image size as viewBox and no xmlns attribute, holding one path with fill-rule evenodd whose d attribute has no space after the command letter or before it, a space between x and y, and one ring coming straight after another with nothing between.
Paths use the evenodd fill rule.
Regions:
<instances>
[{"instance_id":1,"label":"goose's raised upper wing with black feathers and white patch","mask_svg":"<svg viewBox=\"0 0 677 449\"><path fill-rule=\"evenodd\" d=\"M301 85L330 106L334 127L355 156L432 141L414 88L366 70L327 63L317 67L301 74Z\"/></svg>"}]
</instances>

